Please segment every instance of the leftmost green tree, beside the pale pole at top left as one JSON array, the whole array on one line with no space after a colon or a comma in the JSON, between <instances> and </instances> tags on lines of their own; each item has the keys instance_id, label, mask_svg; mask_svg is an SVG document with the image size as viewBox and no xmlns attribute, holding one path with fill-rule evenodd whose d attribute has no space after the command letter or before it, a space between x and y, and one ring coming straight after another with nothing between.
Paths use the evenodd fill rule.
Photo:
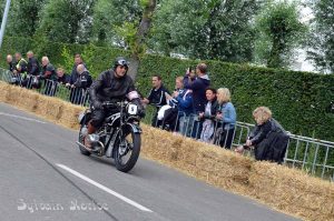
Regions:
<instances>
[{"instance_id":1,"label":"leftmost green tree, beside the pale pole at top left","mask_svg":"<svg viewBox=\"0 0 334 221\"><path fill-rule=\"evenodd\" d=\"M45 3L46 0L12 0L8 34L32 37L39 26L39 13Z\"/></svg>"}]
</instances>

